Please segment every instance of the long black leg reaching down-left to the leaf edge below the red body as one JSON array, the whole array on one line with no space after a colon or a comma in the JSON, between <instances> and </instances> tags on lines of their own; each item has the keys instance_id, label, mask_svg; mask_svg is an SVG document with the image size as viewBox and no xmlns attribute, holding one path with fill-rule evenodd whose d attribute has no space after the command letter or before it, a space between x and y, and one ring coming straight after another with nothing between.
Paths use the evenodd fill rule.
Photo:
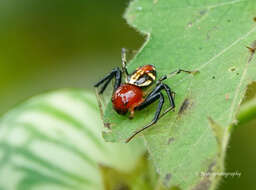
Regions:
<instances>
[{"instance_id":1,"label":"long black leg reaching down-left to the leaf edge below the red body","mask_svg":"<svg viewBox=\"0 0 256 190\"><path fill-rule=\"evenodd\" d=\"M158 103L158 107L157 107L157 110L156 110L156 113L155 113L155 116L154 116L153 120L148 125L146 125L142 129L136 131L132 136L130 136L125 141L126 143L128 143L130 140L132 140L132 138L135 137L138 133L144 131L145 129L147 129L149 127L151 127L152 125L154 125L157 122L157 120L159 118L159 115L161 113L163 104L164 104L164 96L163 96L163 94L161 92L157 92L156 94L153 94L150 97L148 96L148 98L146 98L146 100L141 105L139 105L138 107L135 108L137 110L142 110L142 109L144 109L145 107L147 107L148 105L152 104L153 102L155 102L158 99L159 99L159 103Z\"/></svg>"}]
</instances>

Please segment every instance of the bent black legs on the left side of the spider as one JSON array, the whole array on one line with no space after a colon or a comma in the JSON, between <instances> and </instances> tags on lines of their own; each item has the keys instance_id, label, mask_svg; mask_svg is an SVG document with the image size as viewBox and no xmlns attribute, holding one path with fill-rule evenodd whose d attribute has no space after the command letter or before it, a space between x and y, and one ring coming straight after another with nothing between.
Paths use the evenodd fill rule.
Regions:
<instances>
[{"instance_id":1,"label":"bent black legs on the left side of the spider","mask_svg":"<svg viewBox=\"0 0 256 190\"><path fill-rule=\"evenodd\" d=\"M121 80L122 80L122 72L118 67L113 69L109 74L107 74L103 79L101 79L99 82L97 82L94 85L94 87L99 87L101 84L105 82L105 84L99 91L99 94L102 94L104 92L107 85L110 83L111 79L114 77L115 77L115 84L114 84L114 91L115 91L121 85Z\"/></svg>"}]
</instances>

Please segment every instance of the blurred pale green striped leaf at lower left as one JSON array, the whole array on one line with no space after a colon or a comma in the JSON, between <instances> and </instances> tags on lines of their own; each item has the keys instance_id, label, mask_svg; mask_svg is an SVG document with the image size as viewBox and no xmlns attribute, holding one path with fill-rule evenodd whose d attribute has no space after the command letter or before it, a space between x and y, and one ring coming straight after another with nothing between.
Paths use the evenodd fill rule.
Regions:
<instances>
[{"instance_id":1,"label":"blurred pale green striped leaf at lower left","mask_svg":"<svg viewBox=\"0 0 256 190\"><path fill-rule=\"evenodd\" d=\"M60 90L31 98L1 118L0 189L103 188L99 166L130 172L141 142L106 143L94 94Z\"/></svg>"}]
</instances>

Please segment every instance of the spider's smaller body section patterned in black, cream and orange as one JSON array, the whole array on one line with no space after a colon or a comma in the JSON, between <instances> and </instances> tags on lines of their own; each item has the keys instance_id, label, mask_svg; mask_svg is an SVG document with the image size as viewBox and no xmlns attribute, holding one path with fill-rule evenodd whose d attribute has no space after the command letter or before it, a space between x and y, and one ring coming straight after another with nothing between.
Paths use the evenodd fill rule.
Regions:
<instances>
[{"instance_id":1,"label":"spider's smaller body section patterned in black, cream and orange","mask_svg":"<svg viewBox=\"0 0 256 190\"><path fill-rule=\"evenodd\" d=\"M138 87L150 86L156 80L156 69L153 65L144 65L137 68L127 77L127 83Z\"/></svg>"}]
</instances>

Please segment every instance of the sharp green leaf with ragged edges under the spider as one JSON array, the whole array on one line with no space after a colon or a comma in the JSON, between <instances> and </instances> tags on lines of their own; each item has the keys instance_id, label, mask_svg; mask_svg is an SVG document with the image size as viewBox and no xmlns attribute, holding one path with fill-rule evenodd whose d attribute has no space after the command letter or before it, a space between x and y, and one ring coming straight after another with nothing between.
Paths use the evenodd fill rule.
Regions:
<instances>
[{"instance_id":1,"label":"sharp green leaf with ragged edges under the spider","mask_svg":"<svg viewBox=\"0 0 256 190\"><path fill-rule=\"evenodd\" d=\"M155 65L158 77L179 68L199 71L195 76L180 74L166 80L176 92L176 111L141 134L167 186L198 190L217 184L218 177L200 174L223 170L230 126L236 122L247 85L256 79L254 51L246 48L255 48L255 16L254 0L130 4L125 18L147 34L147 42L129 64L130 72L145 64ZM125 141L152 120L156 106L129 120L109 104L104 120L111 130L104 132L104 138Z\"/></svg>"}]
</instances>

